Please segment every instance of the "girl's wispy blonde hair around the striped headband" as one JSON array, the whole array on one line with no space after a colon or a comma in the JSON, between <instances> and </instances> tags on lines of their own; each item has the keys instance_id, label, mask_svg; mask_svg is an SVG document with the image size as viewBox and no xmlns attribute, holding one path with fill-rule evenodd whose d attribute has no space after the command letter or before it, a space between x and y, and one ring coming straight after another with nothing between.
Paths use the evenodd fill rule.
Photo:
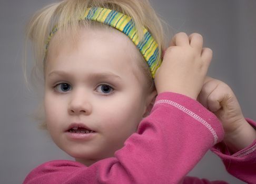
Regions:
<instances>
[{"instance_id":1,"label":"girl's wispy blonde hair around the striped headband","mask_svg":"<svg viewBox=\"0 0 256 184\"><path fill-rule=\"evenodd\" d=\"M135 23L140 39L143 38L144 26L159 44L159 50L164 49L163 21L156 15L148 0L64 0L42 8L32 17L27 26L27 40L30 39L32 41L34 48L35 60L33 62L34 66L32 68L31 79L35 83L37 83L37 79L44 81L45 63L43 60L45 57L45 46L53 27L58 25L58 27L61 27L58 32L68 32L71 34L71 37L75 38L81 25L95 25L86 20L82 21L82 23L80 21L80 17L87 7L103 7L129 15ZM138 62L138 66L143 74L145 74L147 78L146 83L152 90L154 84L150 69L144 62L142 55L138 59L143 60L143 62ZM28 84L26 68L27 64L25 60L25 79Z\"/></svg>"}]
</instances>

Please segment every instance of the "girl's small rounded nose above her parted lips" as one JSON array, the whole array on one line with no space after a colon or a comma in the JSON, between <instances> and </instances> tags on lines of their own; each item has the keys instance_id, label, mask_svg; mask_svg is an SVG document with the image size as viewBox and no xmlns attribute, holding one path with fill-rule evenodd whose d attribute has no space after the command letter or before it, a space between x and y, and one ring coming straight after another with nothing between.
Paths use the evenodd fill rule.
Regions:
<instances>
[{"instance_id":1,"label":"girl's small rounded nose above her parted lips","mask_svg":"<svg viewBox=\"0 0 256 184\"><path fill-rule=\"evenodd\" d=\"M75 93L71 96L68 104L68 114L70 115L90 115L92 105L90 99L85 93Z\"/></svg>"}]
</instances>

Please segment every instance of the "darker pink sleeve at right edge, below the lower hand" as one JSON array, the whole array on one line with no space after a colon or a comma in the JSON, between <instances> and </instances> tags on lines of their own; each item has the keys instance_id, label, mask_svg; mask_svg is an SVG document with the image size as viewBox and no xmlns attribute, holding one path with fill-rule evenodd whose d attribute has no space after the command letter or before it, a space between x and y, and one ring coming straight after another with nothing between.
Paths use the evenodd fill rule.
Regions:
<instances>
[{"instance_id":1,"label":"darker pink sleeve at right edge, below the lower hand","mask_svg":"<svg viewBox=\"0 0 256 184\"><path fill-rule=\"evenodd\" d=\"M248 118L247 121L251 126L256 127L255 121ZM223 142L216 144L211 150L222 159L231 175L247 183L256 183L256 140L233 155L230 155Z\"/></svg>"}]
</instances>

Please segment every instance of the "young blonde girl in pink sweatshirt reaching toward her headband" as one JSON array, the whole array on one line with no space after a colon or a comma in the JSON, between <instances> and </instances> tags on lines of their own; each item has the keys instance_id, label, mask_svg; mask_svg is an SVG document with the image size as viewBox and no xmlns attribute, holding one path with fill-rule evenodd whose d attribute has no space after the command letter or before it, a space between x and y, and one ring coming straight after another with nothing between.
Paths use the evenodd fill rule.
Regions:
<instances>
[{"instance_id":1,"label":"young blonde girl in pink sweatshirt reaching toward her headband","mask_svg":"<svg viewBox=\"0 0 256 184\"><path fill-rule=\"evenodd\" d=\"M47 130L76 161L46 162L24 183L225 183L186 177L212 147L232 175L256 182L256 122L206 76L201 35L176 34L165 50L159 18L135 0L61 1L28 34Z\"/></svg>"}]
</instances>

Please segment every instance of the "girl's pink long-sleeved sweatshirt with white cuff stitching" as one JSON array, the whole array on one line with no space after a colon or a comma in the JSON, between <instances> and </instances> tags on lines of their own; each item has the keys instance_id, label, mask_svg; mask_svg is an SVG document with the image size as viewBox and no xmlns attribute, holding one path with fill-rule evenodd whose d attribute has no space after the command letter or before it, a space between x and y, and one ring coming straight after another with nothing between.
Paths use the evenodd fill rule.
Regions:
<instances>
[{"instance_id":1,"label":"girl's pink long-sleeved sweatshirt with white cuff stitching","mask_svg":"<svg viewBox=\"0 0 256 184\"><path fill-rule=\"evenodd\" d=\"M186 177L214 145L212 150L231 175L256 183L256 140L229 155L221 143L223 136L219 120L198 101L162 93L150 116L141 121L137 132L113 158L90 167L70 160L49 161L32 170L24 183L227 183Z\"/></svg>"}]
</instances>

